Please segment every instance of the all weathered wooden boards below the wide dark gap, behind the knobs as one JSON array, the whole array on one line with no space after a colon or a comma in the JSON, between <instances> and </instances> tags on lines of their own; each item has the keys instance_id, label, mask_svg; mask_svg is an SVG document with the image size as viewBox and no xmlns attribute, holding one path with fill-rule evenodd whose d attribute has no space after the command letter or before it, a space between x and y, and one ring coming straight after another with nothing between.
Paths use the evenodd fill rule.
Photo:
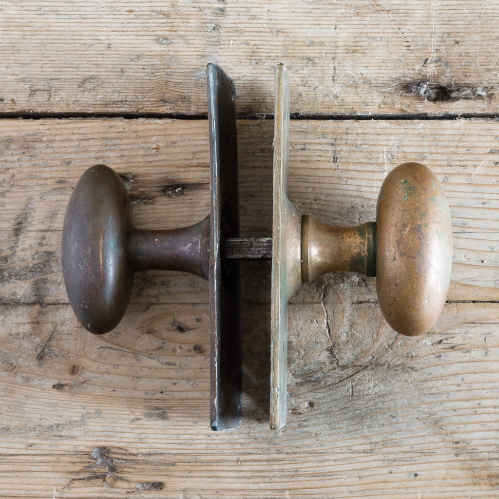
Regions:
<instances>
[{"instance_id":1,"label":"all weathered wooden boards below the wide dark gap, behind the knobs","mask_svg":"<svg viewBox=\"0 0 499 499\"><path fill-rule=\"evenodd\" d=\"M242 234L271 227L272 121L238 122ZM92 336L62 284L60 230L83 170L123 175L138 227L208 213L206 120L0 121L0 497L497 498L499 147L495 120L294 121L291 199L372 220L417 160L444 182L451 292L423 338L383 320L374 281L303 286L289 312L288 423L268 429L269 263L243 266L240 429L209 428L208 287L136 276L119 327Z\"/></svg>"}]
</instances>

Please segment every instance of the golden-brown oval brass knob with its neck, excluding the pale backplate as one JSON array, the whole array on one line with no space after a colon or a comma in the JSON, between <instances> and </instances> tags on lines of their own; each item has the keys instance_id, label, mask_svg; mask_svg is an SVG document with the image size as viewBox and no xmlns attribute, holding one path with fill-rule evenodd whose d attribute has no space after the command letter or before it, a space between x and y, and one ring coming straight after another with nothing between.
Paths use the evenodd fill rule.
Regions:
<instances>
[{"instance_id":1,"label":"golden-brown oval brass knob with its neck, excluding the pale backplate","mask_svg":"<svg viewBox=\"0 0 499 499\"><path fill-rule=\"evenodd\" d=\"M302 215L301 280L337 270L376 276L387 322L417 336L435 324L449 290L452 226L440 182L420 163L399 165L381 186L376 219L343 228Z\"/></svg>"}]
</instances>

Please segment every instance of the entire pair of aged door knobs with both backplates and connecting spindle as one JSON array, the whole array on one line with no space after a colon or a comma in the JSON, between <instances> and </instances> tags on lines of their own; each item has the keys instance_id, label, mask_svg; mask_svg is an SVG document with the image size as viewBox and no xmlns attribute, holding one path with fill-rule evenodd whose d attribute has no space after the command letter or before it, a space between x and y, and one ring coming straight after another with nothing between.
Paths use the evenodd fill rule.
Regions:
<instances>
[{"instance_id":1,"label":"entire pair of aged door knobs with both backplates and connecting spindle","mask_svg":"<svg viewBox=\"0 0 499 499\"><path fill-rule=\"evenodd\" d=\"M287 303L302 283L338 270L377 277L379 304L398 332L430 329L445 304L452 264L447 202L437 178L419 163L386 177L376 222L329 227L302 214L288 198L289 80L275 66L272 238L239 237L235 90L209 64L210 214L197 224L161 231L136 229L119 176L88 169L68 204L62 231L67 294L91 332L123 317L137 270L183 270L209 281L211 426L239 426L242 340L238 259L272 258L270 427L286 421Z\"/></svg>"}]
</instances>

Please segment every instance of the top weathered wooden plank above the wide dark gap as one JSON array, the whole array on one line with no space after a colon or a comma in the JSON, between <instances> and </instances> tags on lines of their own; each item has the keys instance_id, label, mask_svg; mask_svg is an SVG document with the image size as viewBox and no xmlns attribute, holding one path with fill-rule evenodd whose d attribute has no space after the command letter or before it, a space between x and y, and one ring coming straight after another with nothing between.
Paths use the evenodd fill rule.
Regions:
<instances>
[{"instance_id":1,"label":"top weathered wooden plank above the wide dark gap","mask_svg":"<svg viewBox=\"0 0 499 499\"><path fill-rule=\"evenodd\" d=\"M0 1L0 113L206 114L205 68L238 112L273 109L284 62L293 113L497 113L499 4Z\"/></svg>"}]
</instances>

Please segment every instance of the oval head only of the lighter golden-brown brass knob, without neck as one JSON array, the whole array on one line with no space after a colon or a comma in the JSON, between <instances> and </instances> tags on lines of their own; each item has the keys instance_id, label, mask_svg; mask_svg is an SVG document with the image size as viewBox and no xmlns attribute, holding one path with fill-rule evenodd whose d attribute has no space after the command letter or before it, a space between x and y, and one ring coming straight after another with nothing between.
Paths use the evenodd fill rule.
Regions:
<instances>
[{"instance_id":1,"label":"oval head only of the lighter golden-brown brass knob, without neck","mask_svg":"<svg viewBox=\"0 0 499 499\"><path fill-rule=\"evenodd\" d=\"M376 218L381 311L399 333L424 333L442 312L451 277L451 216L438 179L419 163L399 165L381 186Z\"/></svg>"}]
</instances>

